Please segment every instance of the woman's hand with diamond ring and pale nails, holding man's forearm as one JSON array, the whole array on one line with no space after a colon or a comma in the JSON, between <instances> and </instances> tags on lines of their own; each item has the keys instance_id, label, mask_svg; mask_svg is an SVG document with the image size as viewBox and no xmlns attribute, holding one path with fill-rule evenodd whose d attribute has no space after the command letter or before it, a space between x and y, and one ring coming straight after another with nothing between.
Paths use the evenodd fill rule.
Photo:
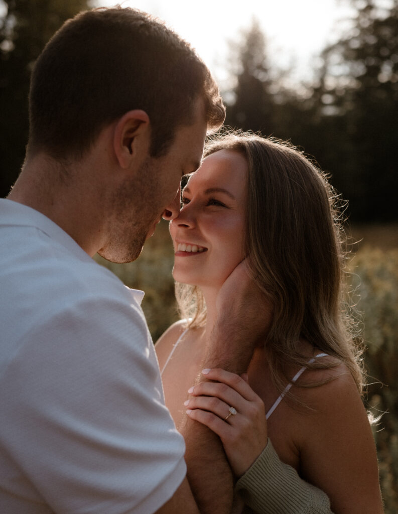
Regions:
<instances>
[{"instance_id":1,"label":"woman's hand with diamond ring and pale nails, holding man's forearm","mask_svg":"<svg viewBox=\"0 0 398 514\"><path fill-rule=\"evenodd\" d=\"M237 477L251 466L267 445L264 403L244 378L221 369L203 370L207 379L189 389L187 415L220 436Z\"/></svg>"}]
</instances>

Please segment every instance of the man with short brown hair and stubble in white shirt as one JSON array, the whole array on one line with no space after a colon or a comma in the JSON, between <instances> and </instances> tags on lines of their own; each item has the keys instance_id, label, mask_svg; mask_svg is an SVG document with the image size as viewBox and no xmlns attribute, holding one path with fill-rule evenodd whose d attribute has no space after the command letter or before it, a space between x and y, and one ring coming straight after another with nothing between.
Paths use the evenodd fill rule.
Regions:
<instances>
[{"instance_id":1,"label":"man with short brown hair and stubble in white shirt","mask_svg":"<svg viewBox=\"0 0 398 514\"><path fill-rule=\"evenodd\" d=\"M136 259L178 214L180 178L224 120L218 88L161 23L96 9L46 45L29 108L25 163L0 200L0 511L229 512L220 441L193 421L185 478L141 293L92 260ZM247 274L232 274L220 305L243 315L220 319L204 367L243 372L262 327L242 310Z\"/></svg>"}]
</instances>

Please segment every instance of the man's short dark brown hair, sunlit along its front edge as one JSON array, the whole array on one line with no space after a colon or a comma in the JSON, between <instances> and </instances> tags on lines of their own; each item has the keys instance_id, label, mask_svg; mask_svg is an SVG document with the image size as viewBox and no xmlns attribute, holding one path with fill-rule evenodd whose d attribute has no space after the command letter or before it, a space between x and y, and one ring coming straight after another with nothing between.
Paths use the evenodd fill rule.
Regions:
<instances>
[{"instance_id":1,"label":"man's short dark brown hair, sunlit along its front edge","mask_svg":"<svg viewBox=\"0 0 398 514\"><path fill-rule=\"evenodd\" d=\"M150 154L167 153L178 126L203 98L208 128L225 109L208 68L188 43L150 15L93 9L68 20L32 72L28 151L80 158L104 126L132 109L151 122Z\"/></svg>"}]
</instances>

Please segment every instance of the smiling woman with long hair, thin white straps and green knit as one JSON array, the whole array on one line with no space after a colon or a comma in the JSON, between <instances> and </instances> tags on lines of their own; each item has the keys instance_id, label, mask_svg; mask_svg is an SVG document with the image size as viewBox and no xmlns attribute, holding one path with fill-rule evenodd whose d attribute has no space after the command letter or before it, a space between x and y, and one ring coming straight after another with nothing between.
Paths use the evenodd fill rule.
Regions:
<instances>
[{"instance_id":1,"label":"smiling woman with long hair, thin white straps and green knit","mask_svg":"<svg viewBox=\"0 0 398 514\"><path fill-rule=\"evenodd\" d=\"M291 144L229 132L207 144L170 223L182 320L156 344L166 405L177 427L188 415L220 436L237 512L383 512L337 203ZM204 370L192 387L243 260L272 305L267 335L247 374Z\"/></svg>"}]
</instances>

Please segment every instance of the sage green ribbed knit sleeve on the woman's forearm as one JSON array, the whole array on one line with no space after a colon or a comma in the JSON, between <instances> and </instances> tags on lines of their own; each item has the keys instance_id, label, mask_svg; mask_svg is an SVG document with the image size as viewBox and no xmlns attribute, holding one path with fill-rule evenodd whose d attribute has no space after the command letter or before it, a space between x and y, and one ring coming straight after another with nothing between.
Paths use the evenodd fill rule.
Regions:
<instances>
[{"instance_id":1,"label":"sage green ribbed knit sleeve on the woman's forearm","mask_svg":"<svg viewBox=\"0 0 398 514\"><path fill-rule=\"evenodd\" d=\"M245 501L242 514L333 514L327 494L281 462L270 439L235 490Z\"/></svg>"}]
</instances>

